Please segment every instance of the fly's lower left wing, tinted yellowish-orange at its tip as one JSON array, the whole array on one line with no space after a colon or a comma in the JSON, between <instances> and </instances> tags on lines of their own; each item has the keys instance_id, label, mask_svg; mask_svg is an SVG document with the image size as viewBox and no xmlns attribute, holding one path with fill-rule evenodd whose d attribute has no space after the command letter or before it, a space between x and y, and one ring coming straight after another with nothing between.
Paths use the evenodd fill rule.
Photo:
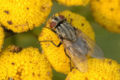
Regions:
<instances>
[{"instance_id":1,"label":"fly's lower left wing, tinted yellowish-orange at its tip","mask_svg":"<svg viewBox=\"0 0 120 80\"><path fill-rule=\"evenodd\" d=\"M88 69L87 57L81 53L81 49L78 47L77 43L71 43L70 41L64 40L64 44L66 52L75 67L81 72L86 72Z\"/></svg>"}]
</instances>

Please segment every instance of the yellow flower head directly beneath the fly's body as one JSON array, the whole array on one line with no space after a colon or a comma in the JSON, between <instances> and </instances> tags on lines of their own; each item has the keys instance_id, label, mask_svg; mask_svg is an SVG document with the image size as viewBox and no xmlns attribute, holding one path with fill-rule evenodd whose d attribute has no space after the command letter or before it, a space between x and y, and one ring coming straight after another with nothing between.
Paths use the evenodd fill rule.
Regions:
<instances>
[{"instance_id":1,"label":"yellow flower head directly beneath the fly's body","mask_svg":"<svg viewBox=\"0 0 120 80\"><path fill-rule=\"evenodd\" d=\"M82 32L94 40L94 32L84 17L70 11L63 11L55 14L55 16L58 15L63 15L69 23L82 30ZM50 27L50 21L51 18L48 20L46 27ZM44 40L52 40L55 44L60 42L58 36L47 28L43 28L39 35L39 41ZM53 68L58 72L67 74L70 71L70 60L64 53L64 46L61 45L60 47L56 47L50 42L40 42L40 44L43 53L45 53Z\"/></svg>"}]
</instances>

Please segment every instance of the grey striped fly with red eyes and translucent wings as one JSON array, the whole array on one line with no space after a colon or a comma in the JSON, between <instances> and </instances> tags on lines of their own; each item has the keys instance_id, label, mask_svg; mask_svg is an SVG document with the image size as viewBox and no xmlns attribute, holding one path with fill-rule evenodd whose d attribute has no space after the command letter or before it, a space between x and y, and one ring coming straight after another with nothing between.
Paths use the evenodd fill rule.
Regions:
<instances>
[{"instance_id":1,"label":"grey striped fly with red eyes and translucent wings","mask_svg":"<svg viewBox=\"0 0 120 80\"><path fill-rule=\"evenodd\" d=\"M53 16L50 22L50 29L58 35L61 41L60 44L64 45L66 55L79 71L87 71L88 56L104 58L102 50L95 42L81 30L68 23L64 16ZM60 46L60 44L57 46Z\"/></svg>"}]
</instances>

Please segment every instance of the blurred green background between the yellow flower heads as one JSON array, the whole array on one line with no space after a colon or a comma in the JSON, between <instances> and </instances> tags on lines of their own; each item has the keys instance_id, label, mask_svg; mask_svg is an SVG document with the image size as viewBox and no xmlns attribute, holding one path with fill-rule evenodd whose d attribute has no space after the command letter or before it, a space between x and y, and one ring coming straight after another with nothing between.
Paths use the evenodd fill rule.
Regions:
<instances>
[{"instance_id":1,"label":"blurred green background between the yellow flower heads","mask_svg":"<svg viewBox=\"0 0 120 80\"><path fill-rule=\"evenodd\" d=\"M120 63L120 34L108 32L99 24L97 24L94 21L94 18L92 17L89 5L86 7L82 7L82 6L66 7L54 1L50 16L52 16L56 12L63 11L63 10L71 10L72 12L78 13L86 17L86 19L89 21L89 23L92 25L95 31L96 43L102 48L105 54L105 57L112 58ZM35 28L32 31L15 34L14 36L10 36L6 38L4 47L8 46L9 44L15 44L21 47L34 46L40 49L40 45L37 40L37 35L39 35L44 25L45 24ZM53 80L65 79L64 74L57 73L54 70L53 70L53 74L54 74Z\"/></svg>"}]
</instances>

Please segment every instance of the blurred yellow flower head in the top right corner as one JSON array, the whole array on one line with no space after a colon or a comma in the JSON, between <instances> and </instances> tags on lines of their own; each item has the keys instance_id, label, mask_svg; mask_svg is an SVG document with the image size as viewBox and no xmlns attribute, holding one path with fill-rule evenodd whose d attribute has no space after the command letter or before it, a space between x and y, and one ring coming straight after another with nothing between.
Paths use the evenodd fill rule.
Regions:
<instances>
[{"instance_id":1,"label":"blurred yellow flower head in the top right corner","mask_svg":"<svg viewBox=\"0 0 120 80\"><path fill-rule=\"evenodd\" d=\"M91 0L95 20L111 32L120 33L120 0Z\"/></svg>"}]
</instances>

